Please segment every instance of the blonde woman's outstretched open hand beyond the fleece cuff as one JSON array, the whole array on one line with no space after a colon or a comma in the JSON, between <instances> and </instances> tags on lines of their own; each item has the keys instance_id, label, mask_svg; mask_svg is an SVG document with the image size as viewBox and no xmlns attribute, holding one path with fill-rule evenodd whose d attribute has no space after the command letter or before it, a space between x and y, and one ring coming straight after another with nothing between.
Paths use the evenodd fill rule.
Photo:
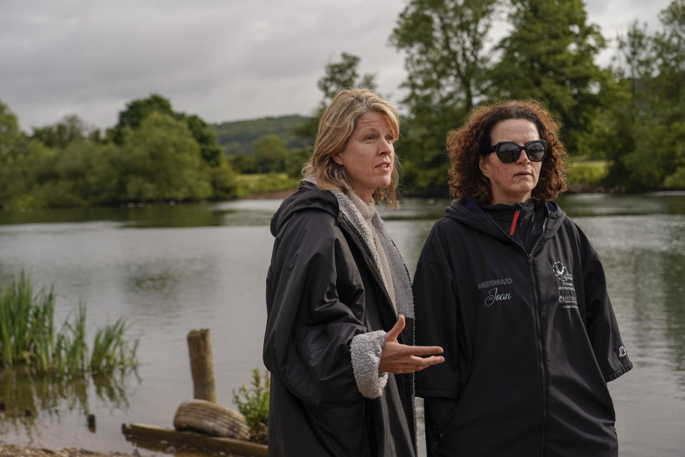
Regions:
<instances>
[{"instance_id":1,"label":"blonde woman's outstretched open hand beyond the fleece cuff","mask_svg":"<svg viewBox=\"0 0 685 457\"><path fill-rule=\"evenodd\" d=\"M385 343L378 364L380 373L414 373L445 361L445 357L442 356L420 357L442 353L440 346L407 346L397 343L397 336L404 328L405 316L400 316L395 326L385 334Z\"/></svg>"}]
</instances>

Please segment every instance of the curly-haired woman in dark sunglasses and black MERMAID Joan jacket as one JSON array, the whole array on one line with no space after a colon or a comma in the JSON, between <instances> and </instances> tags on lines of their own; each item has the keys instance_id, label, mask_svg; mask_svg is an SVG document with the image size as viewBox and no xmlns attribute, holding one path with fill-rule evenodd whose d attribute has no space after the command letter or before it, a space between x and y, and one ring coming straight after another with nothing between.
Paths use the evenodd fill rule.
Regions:
<instances>
[{"instance_id":1,"label":"curly-haired woman in dark sunglasses and black MERMAID Joan jacket","mask_svg":"<svg viewBox=\"0 0 685 457\"><path fill-rule=\"evenodd\" d=\"M551 200L558 126L534 101L472 113L447 136L447 214L414 278L417 373L430 456L617 456L607 382L632 367L602 263Z\"/></svg>"}]
</instances>

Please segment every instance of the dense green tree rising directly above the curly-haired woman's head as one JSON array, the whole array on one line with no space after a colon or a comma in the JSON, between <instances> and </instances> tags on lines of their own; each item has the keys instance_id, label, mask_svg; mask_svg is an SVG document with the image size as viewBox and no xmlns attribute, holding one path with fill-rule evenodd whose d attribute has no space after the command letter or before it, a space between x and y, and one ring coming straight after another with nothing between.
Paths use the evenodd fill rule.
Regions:
<instances>
[{"instance_id":1,"label":"dense green tree rising directly above the curly-haired woman's head","mask_svg":"<svg viewBox=\"0 0 685 457\"><path fill-rule=\"evenodd\" d=\"M493 99L537 99L562 124L570 153L597 114L604 73L594 57L605 46L587 24L582 0L512 0L513 31L497 45L491 73Z\"/></svg>"}]
</instances>

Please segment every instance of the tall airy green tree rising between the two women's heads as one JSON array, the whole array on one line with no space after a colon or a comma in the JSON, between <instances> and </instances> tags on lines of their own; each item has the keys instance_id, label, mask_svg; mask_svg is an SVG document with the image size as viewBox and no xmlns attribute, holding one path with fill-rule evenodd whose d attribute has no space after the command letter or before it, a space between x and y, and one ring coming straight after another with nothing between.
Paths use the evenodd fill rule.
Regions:
<instances>
[{"instance_id":1,"label":"tall airy green tree rising between the two women's heads","mask_svg":"<svg viewBox=\"0 0 685 457\"><path fill-rule=\"evenodd\" d=\"M445 135L483 98L491 65L487 34L498 0L412 0L390 43L405 52L408 94L397 154L412 194L447 194Z\"/></svg>"}]
</instances>

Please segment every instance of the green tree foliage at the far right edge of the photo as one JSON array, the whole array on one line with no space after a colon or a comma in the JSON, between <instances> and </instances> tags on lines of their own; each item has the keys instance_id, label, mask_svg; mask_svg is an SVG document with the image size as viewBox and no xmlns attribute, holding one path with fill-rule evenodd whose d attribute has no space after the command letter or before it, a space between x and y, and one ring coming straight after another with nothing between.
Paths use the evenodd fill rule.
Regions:
<instances>
[{"instance_id":1,"label":"green tree foliage at the far right edge of the photo","mask_svg":"<svg viewBox=\"0 0 685 457\"><path fill-rule=\"evenodd\" d=\"M685 169L685 1L661 12L650 35L634 22L619 41L612 105L600 114L594 144L612 160L608 186L644 190L682 187Z\"/></svg>"}]
</instances>

